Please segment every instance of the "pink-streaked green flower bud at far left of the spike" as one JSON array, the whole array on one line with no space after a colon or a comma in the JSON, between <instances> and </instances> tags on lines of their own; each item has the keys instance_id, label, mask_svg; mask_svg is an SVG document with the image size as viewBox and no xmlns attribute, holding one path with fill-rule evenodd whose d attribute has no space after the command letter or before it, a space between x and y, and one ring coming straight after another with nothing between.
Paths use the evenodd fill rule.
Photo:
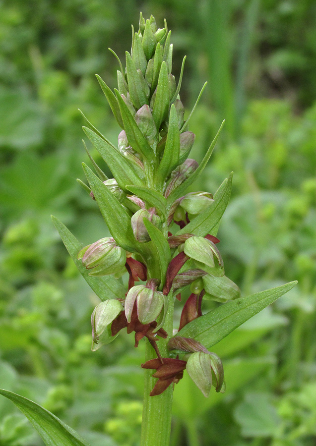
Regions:
<instances>
[{"instance_id":1,"label":"pink-streaked green flower bud at far left of the spike","mask_svg":"<svg viewBox=\"0 0 316 446\"><path fill-rule=\"evenodd\" d=\"M106 276L121 271L126 263L126 252L116 245L114 238L106 237L82 248L78 259L82 259L87 270L92 270L89 276Z\"/></svg>"}]
</instances>

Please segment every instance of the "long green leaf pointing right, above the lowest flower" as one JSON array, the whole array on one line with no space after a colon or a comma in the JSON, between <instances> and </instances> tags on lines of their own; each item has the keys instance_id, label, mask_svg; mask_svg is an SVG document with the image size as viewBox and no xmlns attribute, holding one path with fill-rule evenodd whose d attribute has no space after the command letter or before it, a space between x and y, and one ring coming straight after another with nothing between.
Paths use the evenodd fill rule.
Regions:
<instances>
[{"instance_id":1,"label":"long green leaf pointing right, above the lowest flower","mask_svg":"<svg viewBox=\"0 0 316 446\"><path fill-rule=\"evenodd\" d=\"M206 348L219 342L263 308L287 293L297 281L232 300L187 324L179 336L192 337Z\"/></svg>"}]
</instances>

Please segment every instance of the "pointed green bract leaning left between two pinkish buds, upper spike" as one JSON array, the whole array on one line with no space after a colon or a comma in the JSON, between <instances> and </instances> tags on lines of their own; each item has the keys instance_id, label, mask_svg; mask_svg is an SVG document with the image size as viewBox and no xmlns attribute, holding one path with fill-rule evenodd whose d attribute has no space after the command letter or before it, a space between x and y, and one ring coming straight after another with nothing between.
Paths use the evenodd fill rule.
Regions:
<instances>
[{"instance_id":1,"label":"pointed green bract leaning left between two pinkish buds, upper spike","mask_svg":"<svg viewBox=\"0 0 316 446\"><path fill-rule=\"evenodd\" d=\"M154 160L154 152L152 148L138 128L138 125L136 124L136 121L131 112L128 110L122 96L117 90L116 93L121 109L124 129L126 131L128 143L136 152L142 154L147 160ZM132 183L132 181L129 181L129 184L130 183Z\"/></svg>"}]
</instances>

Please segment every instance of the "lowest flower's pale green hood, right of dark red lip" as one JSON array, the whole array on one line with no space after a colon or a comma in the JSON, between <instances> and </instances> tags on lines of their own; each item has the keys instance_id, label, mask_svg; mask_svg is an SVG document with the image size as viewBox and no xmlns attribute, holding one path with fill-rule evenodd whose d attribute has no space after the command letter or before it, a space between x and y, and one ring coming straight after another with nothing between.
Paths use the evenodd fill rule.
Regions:
<instances>
[{"instance_id":1,"label":"lowest flower's pale green hood, right of dark red lip","mask_svg":"<svg viewBox=\"0 0 316 446\"><path fill-rule=\"evenodd\" d=\"M190 378L201 390L204 396L208 397L215 376L216 391L219 392L224 384L224 370L220 358L215 353L205 353L202 351L190 354L187 362L187 371Z\"/></svg>"}]
</instances>

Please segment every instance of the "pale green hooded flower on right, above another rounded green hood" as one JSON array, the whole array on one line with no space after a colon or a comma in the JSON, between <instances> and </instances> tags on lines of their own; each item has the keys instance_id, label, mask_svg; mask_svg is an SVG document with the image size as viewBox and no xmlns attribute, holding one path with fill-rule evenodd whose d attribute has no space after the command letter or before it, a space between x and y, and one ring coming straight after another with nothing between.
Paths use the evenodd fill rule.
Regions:
<instances>
[{"instance_id":1,"label":"pale green hooded flower on right, above another rounded green hood","mask_svg":"<svg viewBox=\"0 0 316 446\"><path fill-rule=\"evenodd\" d=\"M213 276L224 276L222 257L210 240L194 235L186 240L184 251L195 261L198 268Z\"/></svg>"}]
</instances>

